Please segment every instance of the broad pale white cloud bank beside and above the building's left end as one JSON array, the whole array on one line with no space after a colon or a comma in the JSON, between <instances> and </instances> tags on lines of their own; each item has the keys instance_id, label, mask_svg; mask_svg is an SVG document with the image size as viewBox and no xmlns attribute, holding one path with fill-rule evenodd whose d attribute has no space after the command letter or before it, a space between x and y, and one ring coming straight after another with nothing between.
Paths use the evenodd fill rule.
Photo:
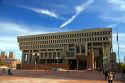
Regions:
<instances>
[{"instance_id":1,"label":"broad pale white cloud bank beside and above the building's left end","mask_svg":"<svg viewBox=\"0 0 125 83\"><path fill-rule=\"evenodd\" d=\"M14 22L0 21L0 51L14 51L16 52L17 58L20 58L21 51L19 50L17 36L41 34L43 33L42 31L45 31L43 29L42 31L31 30L29 27L28 25L16 24Z\"/></svg>"}]
</instances>

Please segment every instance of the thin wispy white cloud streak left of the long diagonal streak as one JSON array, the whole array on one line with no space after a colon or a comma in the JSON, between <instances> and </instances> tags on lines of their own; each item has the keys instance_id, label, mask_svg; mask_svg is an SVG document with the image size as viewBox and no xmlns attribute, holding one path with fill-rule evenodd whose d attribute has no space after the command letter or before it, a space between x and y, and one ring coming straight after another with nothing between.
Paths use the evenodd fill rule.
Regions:
<instances>
[{"instance_id":1,"label":"thin wispy white cloud streak left of the long diagonal streak","mask_svg":"<svg viewBox=\"0 0 125 83\"><path fill-rule=\"evenodd\" d=\"M18 7L29 9L29 10L32 10L33 12L36 12L36 13L39 13L39 14L48 15L48 16L56 18L56 19L62 19L62 20L64 20L63 17L59 16L54 11L50 11L48 9L40 9L40 8L33 8L33 7L27 7L27 6L18 6Z\"/></svg>"}]
</instances>

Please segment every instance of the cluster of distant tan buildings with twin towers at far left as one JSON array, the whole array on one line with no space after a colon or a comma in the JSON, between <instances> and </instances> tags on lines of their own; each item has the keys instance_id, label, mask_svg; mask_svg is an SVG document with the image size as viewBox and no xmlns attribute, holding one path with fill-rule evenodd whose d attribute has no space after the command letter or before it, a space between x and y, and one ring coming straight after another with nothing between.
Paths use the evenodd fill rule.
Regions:
<instances>
[{"instance_id":1,"label":"cluster of distant tan buildings with twin towers at far left","mask_svg":"<svg viewBox=\"0 0 125 83\"><path fill-rule=\"evenodd\" d=\"M0 61L3 62L7 67L16 68L16 64L20 63L20 60L15 58L14 52L10 52L7 56L5 51L2 51L0 54Z\"/></svg>"}]
</instances>

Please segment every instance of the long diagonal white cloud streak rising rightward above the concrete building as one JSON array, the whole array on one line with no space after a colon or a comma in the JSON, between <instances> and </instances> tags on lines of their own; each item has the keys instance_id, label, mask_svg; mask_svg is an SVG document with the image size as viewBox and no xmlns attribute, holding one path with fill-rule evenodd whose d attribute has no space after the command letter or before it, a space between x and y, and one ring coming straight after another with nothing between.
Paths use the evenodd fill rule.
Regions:
<instances>
[{"instance_id":1,"label":"long diagonal white cloud streak rising rightward above the concrete building","mask_svg":"<svg viewBox=\"0 0 125 83\"><path fill-rule=\"evenodd\" d=\"M92 4L94 0L88 0L87 2L81 4L80 6L75 7L75 14L66 20L62 25L60 25L60 28L65 27L69 23L71 23L83 10L85 10L90 4Z\"/></svg>"}]
</instances>

